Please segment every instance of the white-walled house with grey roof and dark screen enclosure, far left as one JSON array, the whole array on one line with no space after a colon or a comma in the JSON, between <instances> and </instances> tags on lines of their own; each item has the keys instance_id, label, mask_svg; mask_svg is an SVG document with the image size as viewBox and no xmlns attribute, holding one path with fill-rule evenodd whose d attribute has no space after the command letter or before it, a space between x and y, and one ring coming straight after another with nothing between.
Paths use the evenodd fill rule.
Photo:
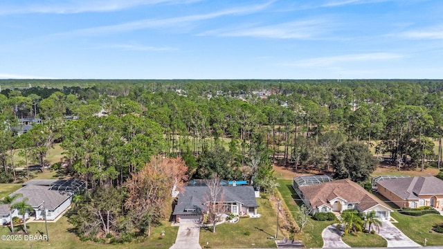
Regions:
<instances>
[{"instance_id":1,"label":"white-walled house with grey roof and dark screen enclosure, far left","mask_svg":"<svg viewBox=\"0 0 443 249\"><path fill-rule=\"evenodd\" d=\"M27 203L33 207L26 216L34 216L36 220L52 221L62 214L71 205L75 192L84 190L85 183L78 180L31 180L23 184L19 190L10 194L21 194L15 203L27 198ZM13 203L12 203L13 205ZM18 210L12 210L12 217L19 216L23 219L24 214ZM10 222L8 205L0 205L1 223Z\"/></svg>"}]
</instances>

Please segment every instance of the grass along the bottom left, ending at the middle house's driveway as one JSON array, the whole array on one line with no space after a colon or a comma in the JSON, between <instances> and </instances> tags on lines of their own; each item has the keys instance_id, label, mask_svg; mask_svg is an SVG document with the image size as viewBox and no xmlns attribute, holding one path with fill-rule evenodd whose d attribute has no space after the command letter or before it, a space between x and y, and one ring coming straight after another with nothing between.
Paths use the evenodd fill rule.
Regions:
<instances>
[{"instance_id":1,"label":"grass along the bottom left, ending at the middle house's driveway","mask_svg":"<svg viewBox=\"0 0 443 249\"><path fill-rule=\"evenodd\" d=\"M46 234L44 222L27 223L29 234L38 234L38 231ZM177 237L178 227L172 227L170 223L165 222L163 226L155 228L152 231L152 236L139 243L125 243L125 244L100 244L91 241L80 241L77 235L70 232L73 228L65 216L63 216L56 223L48 223L49 241L32 241L32 248L159 248L167 249L172 246ZM165 231L165 237L160 238L161 230ZM10 229L7 227L0 227L0 234L9 234ZM1 241L1 248L28 248L31 241L24 241L22 235L21 241Z\"/></svg>"}]
</instances>

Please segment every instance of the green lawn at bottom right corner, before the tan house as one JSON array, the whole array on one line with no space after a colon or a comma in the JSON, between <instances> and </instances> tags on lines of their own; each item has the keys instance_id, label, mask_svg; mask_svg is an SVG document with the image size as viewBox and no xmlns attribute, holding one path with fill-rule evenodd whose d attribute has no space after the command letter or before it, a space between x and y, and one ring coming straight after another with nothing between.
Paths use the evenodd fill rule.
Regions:
<instances>
[{"instance_id":1,"label":"green lawn at bottom right corner, before the tan house","mask_svg":"<svg viewBox=\"0 0 443 249\"><path fill-rule=\"evenodd\" d=\"M409 216L392 212L392 218L398 223L393 223L397 228L404 232L413 241L424 245L424 239L428 239L426 246L442 246L443 234L433 232L433 225L443 223L443 216L439 214L425 214L423 216Z\"/></svg>"}]
</instances>

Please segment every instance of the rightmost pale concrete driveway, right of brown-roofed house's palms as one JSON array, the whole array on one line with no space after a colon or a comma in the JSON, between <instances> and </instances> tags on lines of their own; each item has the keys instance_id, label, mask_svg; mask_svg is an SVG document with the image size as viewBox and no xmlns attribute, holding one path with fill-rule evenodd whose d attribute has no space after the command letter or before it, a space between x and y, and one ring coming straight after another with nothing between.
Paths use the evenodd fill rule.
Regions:
<instances>
[{"instance_id":1,"label":"rightmost pale concrete driveway, right of brown-roofed house's palms","mask_svg":"<svg viewBox=\"0 0 443 249\"><path fill-rule=\"evenodd\" d=\"M380 228L379 235L388 241L388 247L417 247L420 246L412 239L409 239L403 232L401 232L395 225L392 225L390 221L381 221L382 227Z\"/></svg>"}]
</instances>

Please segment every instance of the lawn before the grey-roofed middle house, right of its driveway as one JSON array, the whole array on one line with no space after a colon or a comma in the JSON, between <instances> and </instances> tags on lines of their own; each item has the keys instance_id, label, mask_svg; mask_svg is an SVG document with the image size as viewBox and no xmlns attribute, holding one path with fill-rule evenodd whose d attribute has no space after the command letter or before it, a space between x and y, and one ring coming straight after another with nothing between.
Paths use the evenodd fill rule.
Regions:
<instances>
[{"instance_id":1,"label":"lawn before the grey-roofed middle house, right of its driveway","mask_svg":"<svg viewBox=\"0 0 443 249\"><path fill-rule=\"evenodd\" d=\"M217 225L215 233L201 228L200 244L209 242L210 248L276 248L273 239L277 228L277 214L266 199L257 199L260 218L241 218L237 223ZM249 235L246 234L249 233Z\"/></svg>"}]
</instances>

